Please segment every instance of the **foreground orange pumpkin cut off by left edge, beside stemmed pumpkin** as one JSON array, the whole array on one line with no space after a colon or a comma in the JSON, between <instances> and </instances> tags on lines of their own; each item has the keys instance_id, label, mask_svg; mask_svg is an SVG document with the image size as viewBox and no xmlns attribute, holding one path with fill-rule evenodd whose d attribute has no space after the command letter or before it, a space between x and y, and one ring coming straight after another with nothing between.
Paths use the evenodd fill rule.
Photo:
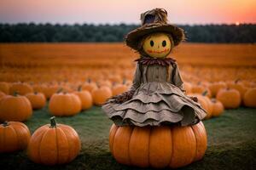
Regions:
<instances>
[{"instance_id":1,"label":"foreground orange pumpkin cut off by left edge, beside stemmed pumpkin","mask_svg":"<svg viewBox=\"0 0 256 170\"><path fill-rule=\"evenodd\" d=\"M30 139L30 132L22 122L0 124L0 153L24 150Z\"/></svg>"}]
</instances>

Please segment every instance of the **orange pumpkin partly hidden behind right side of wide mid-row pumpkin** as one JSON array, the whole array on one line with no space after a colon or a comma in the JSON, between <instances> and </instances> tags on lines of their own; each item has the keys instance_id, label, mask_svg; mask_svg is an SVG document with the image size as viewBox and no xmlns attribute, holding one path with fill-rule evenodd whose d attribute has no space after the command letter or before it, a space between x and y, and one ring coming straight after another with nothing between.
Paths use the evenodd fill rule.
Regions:
<instances>
[{"instance_id":1,"label":"orange pumpkin partly hidden behind right side of wide mid-row pumpkin","mask_svg":"<svg viewBox=\"0 0 256 170\"><path fill-rule=\"evenodd\" d=\"M93 102L89 91L81 90L81 87L79 87L79 91L76 91L73 94L79 96L79 99L81 100L82 110L87 110L92 107Z\"/></svg>"}]
</instances>

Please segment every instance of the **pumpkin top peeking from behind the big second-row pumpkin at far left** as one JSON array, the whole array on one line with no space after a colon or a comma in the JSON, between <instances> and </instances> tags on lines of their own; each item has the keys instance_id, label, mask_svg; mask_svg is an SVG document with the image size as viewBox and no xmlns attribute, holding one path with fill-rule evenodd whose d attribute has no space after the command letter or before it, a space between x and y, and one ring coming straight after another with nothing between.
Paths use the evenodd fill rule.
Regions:
<instances>
[{"instance_id":1,"label":"pumpkin top peeking from behind the big second-row pumpkin at far left","mask_svg":"<svg viewBox=\"0 0 256 170\"><path fill-rule=\"evenodd\" d=\"M14 82L9 88L9 94L25 95L33 92L33 88L26 82Z\"/></svg>"}]
</instances>

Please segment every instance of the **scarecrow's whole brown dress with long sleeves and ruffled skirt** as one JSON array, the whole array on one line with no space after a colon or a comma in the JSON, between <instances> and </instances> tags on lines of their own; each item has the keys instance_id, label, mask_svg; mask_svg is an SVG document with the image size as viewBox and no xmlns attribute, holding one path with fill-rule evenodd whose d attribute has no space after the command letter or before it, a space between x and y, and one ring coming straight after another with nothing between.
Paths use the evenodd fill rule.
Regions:
<instances>
[{"instance_id":1,"label":"scarecrow's whole brown dress with long sleeves and ruffled skirt","mask_svg":"<svg viewBox=\"0 0 256 170\"><path fill-rule=\"evenodd\" d=\"M137 59L137 70L128 93L131 99L109 99L102 110L117 126L188 126L207 112L183 90L175 60ZM124 96L121 94L118 97Z\"/></svg>"}]
</instances>

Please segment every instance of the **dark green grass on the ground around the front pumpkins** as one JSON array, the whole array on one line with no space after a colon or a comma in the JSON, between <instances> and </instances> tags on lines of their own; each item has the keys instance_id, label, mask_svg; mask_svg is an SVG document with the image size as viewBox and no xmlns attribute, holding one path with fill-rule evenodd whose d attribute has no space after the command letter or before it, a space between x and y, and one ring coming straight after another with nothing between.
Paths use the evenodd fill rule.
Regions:
<instances>
[{"instance_id":1,"label":"dark green grass on the ground around the front pumpkins","mask_svg":"<svg viewBox=\"0 0 256 170\"><path fill-rule=\"evenodd\" d=\"M47 107L34 111L26 122L32 133L49 123ZM137 169L117 163L108 150L108 131L112 122L100 107L77 116L57 117L58 123L70 125L79 133L82 150L66 165L45 167L28 160L26 151L0 155L1 169ZM240 108L224 111L218 118L204 121L208 148L201 161L181 169L256 169L256 110Z\"/></svg>"}]
</instances>

